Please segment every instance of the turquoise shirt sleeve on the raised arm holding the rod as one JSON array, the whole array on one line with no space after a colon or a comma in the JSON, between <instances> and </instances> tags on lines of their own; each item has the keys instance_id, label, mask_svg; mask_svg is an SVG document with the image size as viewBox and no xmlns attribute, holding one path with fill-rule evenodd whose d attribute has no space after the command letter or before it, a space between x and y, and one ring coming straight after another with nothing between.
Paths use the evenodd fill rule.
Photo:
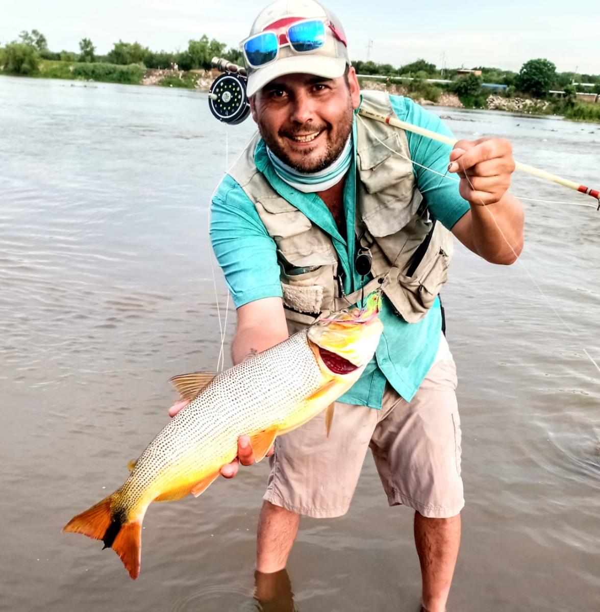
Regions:
<instances>
[{"instance_id":1,"label":"turquoise shirt sleeve on the raised arm holding the rod","mask_svg":"<svg viewBox=\"0 0 600 612\"><path fill-rule=\"evenodd\" d=\"M437 115L426 111L409 98L392 95L390 99L392 108L402 121L454 138L452 132ZM412 132L407 132L406 135L411 159L422 166L427 166L427 168L432 168L432 170L446 175L445 178L442 178L440 174L413 165L417 186L427 206L429 206L433 216L451 230L460 217L469 210L469 203L460 196L456 174L446 173L452 147L449 144L438 143L426 138L426 136L420 136Z\"/></svg>"}]
</instances>

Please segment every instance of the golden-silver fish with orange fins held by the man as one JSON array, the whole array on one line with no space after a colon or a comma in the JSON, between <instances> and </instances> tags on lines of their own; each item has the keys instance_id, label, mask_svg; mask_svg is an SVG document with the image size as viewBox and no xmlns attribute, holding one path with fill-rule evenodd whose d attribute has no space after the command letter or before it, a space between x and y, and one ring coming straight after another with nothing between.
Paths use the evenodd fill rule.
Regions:
<instances>
[{"instance_id":1,"label":"golden-silver fish with orange fins held by the man","mask_svg":"<svg viewBox=\"0 0 600 612\"><path fill-rule=\"evenodd\" d=\"M323 435L329 435L335 400L358 380L377 348L383 331L380 300L374 293L364 308L333 313L219 374L174 376L181 398L190 402L130 462L122 487L73 517L62 531L102 540L135 580L148 506L200 495L238 454L239 436L250 436L260 461L277 436L323 410Z\"/></svg>"}]
</instances>

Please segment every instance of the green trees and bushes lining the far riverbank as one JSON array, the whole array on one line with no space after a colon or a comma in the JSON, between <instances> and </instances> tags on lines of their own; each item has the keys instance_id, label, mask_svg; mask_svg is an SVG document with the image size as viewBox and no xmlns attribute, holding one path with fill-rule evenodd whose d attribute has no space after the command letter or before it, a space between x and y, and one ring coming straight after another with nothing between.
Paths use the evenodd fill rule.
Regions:
<instances>
[{"instance_id":1,"label":"green trees and bushes lining the far riverbank","mask_svg":"<svg viewBox=\"0 0 600 612\"><path fill-rule=\"evenodd\" d=\"M202 35L189 40L183 51L152 51L141 43L119 40L104 56L96 54L96 47L89 38L79 42L79 52L51 51L48 41L37 29L22 31L18 40L0 47L0 73L23 76L43 76L104 81L108 83L138 84L144 80L147 69L173 70L167 73L148 73L148 81L165 87L193 89L198 86L196 71L211 68L211 59L220 56L234 64L242 64L242 53L237 48L225 48L225 43ZM458 75L455 69L438 69L425 59L394 67L392 64L354 61L356 72L363 75L381 76L376 79L383 87L402 92L416 100L438 102L443 92L455 93L467 108L487 108L492 90L484 83L506 86L500 95L518 98L517 108L523 108L523 98L532 111L562 114L568 119L600 121L600 104L583 102L580 92L600 94L600 75L557 73L555 65L548 59L531 59L523 64L519 73L495 67L479 66L471 72ZM177 70L177 72L174 72ZM162 76L162 78L161 78ZM443 83L428 83L441 80ZM579 83L576 84L576 81ZM373 79L369 80L370 83ZM584 86L582 83L591 84ZM381 87L381 86L379 86ZM563 91L562 97L551 97L551 90ZM532 104L527 99L538 100ZM544 102L546 100L546 102ZM495 99L497 106L502 106Z\"/></svg>"}]
</instances>

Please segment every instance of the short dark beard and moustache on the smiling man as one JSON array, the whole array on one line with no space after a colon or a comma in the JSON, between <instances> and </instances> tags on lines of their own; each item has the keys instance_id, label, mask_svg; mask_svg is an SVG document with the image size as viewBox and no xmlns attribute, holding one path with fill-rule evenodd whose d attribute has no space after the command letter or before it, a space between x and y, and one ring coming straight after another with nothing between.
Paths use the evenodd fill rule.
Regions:
<instances>
[{"instance_id":1,"label":"short dark beard and moustache on the smiling man","mask_svg":"<svg viewBox=\"0 0 600 612\"><path fill-rule=\"evenodd\" d=\"M263 137L266 145L271 149L271 152L275 154L283 163L287 164L294 170L305 173L320 172L325 170L328 166L331 166L333 162L342 154L343 147L350 137L352 132L352 124L354 118L354 109L350 97L348 97L348 105L346 113L343 114L342 119L336 127L332 124L325 122L323 125L317 126L312 122L306 124L296 125L290 128L282 128L279 130L277 135L272 134L266 125L263 125L261 121L258 121L258 129L261 136ZM285 142L286 138L293 138L299 134L306 134L310 132L324 132L320 134L318 138L326 136L327 144L325 151L318 156L315 156L313 149L307 149L302 154L301 159L290 159L289 155L285 152L282 146L282 141Z\"/></svg>"}]
</instances>

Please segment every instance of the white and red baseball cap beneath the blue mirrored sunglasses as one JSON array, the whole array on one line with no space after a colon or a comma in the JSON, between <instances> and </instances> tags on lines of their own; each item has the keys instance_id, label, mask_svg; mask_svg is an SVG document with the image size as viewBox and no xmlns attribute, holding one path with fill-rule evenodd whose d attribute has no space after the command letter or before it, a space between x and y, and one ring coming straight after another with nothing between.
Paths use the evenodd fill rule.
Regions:
<instances>
[{"instance_id":1,"label":"white and red baseball cap beneath the blue mirrored sunglasses","mask_svg":"<svg viewBox=\"0 0 600 612\"><path fill-rule=\"evenodd\" d=\"M294 53L286 45L280 47L276 61L261 68L248 67L247 94L254 95L278 76L305 73L338 78L350 64L346 35L342 24L331 10L315 0L277 0L261 10L252 24L250 36L260 32L274 31L285 34L285 30L296 21L321 19L325 24L325 43L310 53Z\"/></svg>"}]
</instances>

